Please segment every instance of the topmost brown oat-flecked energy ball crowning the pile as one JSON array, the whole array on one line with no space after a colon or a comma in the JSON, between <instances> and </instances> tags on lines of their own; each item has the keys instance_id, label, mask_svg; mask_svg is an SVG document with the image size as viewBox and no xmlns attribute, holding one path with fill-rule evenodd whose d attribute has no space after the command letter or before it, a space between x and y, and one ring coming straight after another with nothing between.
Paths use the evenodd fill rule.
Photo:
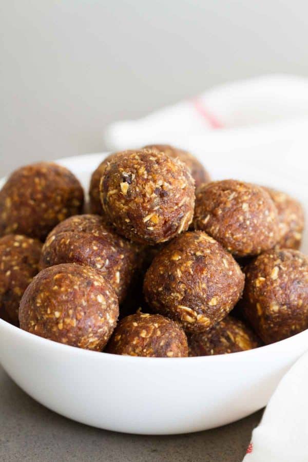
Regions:
<instances>
[{"instance_id":1,"label":"topmost brown oat-flecked energy ball crowning the pile","mask_svg":"<svg viewBox=\"0 0 308 462\"><path fill-rule=\"evenodd\" d=\"M187 167L155 150L113 159L100 188L103 208L118 233L143 244L175 237L194 214L194 180Z\"/></svg>"}]
</instances>

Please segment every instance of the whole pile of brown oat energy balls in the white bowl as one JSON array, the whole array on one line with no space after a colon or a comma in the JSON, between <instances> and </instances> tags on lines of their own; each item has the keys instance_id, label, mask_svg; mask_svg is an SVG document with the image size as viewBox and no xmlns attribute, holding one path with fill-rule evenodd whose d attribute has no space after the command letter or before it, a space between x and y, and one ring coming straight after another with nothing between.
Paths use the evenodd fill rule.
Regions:
<instances>
[{"instance_id":1,"label":"whole pile of brown oat energy balls in the white bowl","mask_svg":"<svg viewBox=\"0 0 308 462\"><path fill-rule=\"evenodd\" d=\"M66 168L16 170L0 191L0 316L113 354L232 353L308 328L303 209L210 181L168 145L116 152L93 172L90 214ZM120 320L119 320L120 319Z\"/></svg>"}]
</instances>

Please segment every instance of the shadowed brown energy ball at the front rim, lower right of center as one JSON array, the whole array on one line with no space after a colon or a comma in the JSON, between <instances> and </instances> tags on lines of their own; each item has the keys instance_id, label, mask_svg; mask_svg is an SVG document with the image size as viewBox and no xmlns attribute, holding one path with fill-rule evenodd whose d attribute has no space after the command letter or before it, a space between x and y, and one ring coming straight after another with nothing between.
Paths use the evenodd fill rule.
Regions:
<instances>
[{"instance_id":1,"label":"shadowed brown energy ball at the front rim, lower right of center","mask_svg":"<svg viewBox=\"0 0 308 462\"><path fill-rule=\"evenodd\" d=\"M208 332L192 334L188 346L189 356L208 356L251 350L261 342L243 322L226 316Z\"/></svg>"}]
</instances>

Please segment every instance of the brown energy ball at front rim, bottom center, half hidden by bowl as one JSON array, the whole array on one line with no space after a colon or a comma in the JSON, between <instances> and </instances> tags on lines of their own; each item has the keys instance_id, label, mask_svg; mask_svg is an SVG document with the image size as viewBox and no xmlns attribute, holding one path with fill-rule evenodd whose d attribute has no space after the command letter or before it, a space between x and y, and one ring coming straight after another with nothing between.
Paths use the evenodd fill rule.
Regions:
<instances>
[{"instance_id":1,"label":"brown energy ball at front rim, bottom center, half hidden by bowl","mask_svg":"<svg viewBox=\"0 0 308 462\"><path fill-rule=\"evenodd\" d=\"M176 322L157 314L136 313L119 322L106 352L177 358L188 356L188 345L183 329Z\"/></svg>"}]
</instances>

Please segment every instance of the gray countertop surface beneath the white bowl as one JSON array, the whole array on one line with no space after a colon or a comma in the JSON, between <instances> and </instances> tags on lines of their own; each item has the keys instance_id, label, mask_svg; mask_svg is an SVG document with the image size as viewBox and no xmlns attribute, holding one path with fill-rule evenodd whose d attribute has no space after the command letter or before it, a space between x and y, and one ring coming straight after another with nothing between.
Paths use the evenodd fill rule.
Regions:
<instances>
[{"instance_id":1,"label":"gray countertop surface beneath the white bowl","mask_svg":"<svg viewBox=\"0 0 308 462\"><path fill-rule=\"evenodd\" d=\"M68 420L26 395L0 367L2 462L240 462L261 411L214 430L173 436L108 432Z\"/></svg>"}]
</instances>

